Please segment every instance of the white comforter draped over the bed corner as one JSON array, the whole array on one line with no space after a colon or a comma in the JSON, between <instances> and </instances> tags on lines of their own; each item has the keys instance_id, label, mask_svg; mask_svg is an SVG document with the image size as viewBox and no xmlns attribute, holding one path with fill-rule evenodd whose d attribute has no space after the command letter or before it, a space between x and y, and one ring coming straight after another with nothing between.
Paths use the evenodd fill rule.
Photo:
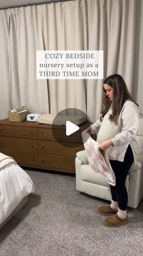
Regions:
<instances>
[{"instance_id":1,"label":"white comforter draped over the bed corner","mask_svg":"<svg viewBox=\"0 0 143 256\"><path fill-rule=\"evenodd\" d=\"M28 174L12 157L0 153L0 224L33 191L34 185Z\"/></svg>"}]
</instances>

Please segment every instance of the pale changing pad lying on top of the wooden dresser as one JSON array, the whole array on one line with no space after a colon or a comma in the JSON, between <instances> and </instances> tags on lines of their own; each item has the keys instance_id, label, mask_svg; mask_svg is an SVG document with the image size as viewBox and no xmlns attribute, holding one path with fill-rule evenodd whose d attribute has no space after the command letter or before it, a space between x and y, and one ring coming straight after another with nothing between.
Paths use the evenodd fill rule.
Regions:
<instances>
[{"instance_id":1,"label":"pale changing pad lying on top of the wooden dresser","mask_svg":"<svg viewBox=\"0 0 143 256\"><path fill-rule=\"evenodd\" d=\"M53 115L53 114L44 114L40 115L38 118L38 123L41 124L52 124L54 126L65 126L66 121L70 121L76 126L82 124L86 121L86 118L82 115Z\"/></svg>"}]
</instances>

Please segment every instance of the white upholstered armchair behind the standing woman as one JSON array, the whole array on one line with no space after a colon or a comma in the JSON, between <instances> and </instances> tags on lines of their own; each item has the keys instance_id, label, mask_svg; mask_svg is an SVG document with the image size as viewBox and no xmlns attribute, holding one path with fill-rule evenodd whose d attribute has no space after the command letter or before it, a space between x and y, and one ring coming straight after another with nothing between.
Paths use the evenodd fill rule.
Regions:
<instances>
[{"instance_id":1,"label":"white upholstered armchair behind the standing woman","mask_svg":"<svg viewBox=\"0 0 143 256\"><path fill-rule=\"evenodd\" d=\"M136 135L138 143L138 163L131 166L126 179L128 206L136 208L143 197L143 119L139 120ZM111 201L110 185L100 172L95 172L88 164L85 151L76 154L76 190Z\"/></svg>"}]
</instances>

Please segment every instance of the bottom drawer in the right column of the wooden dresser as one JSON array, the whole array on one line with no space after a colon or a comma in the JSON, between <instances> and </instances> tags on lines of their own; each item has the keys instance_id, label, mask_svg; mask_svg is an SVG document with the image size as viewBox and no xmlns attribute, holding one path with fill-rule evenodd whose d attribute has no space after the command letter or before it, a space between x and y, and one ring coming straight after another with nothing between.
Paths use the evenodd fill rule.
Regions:
<instances>
[{"instance_id":1,"label":"bottom drawer in the right column of the wooden dresser","mask_svg":"<svg viewBox=\"0 0 143 256\"><path fill-rule=\"evenodd\" d=\"M64 155L48 155L38 154L38 165L47 169L55 169L62 171L67 170L75 172L75 157L67 157Z\"/></svg>"}]
</instances>

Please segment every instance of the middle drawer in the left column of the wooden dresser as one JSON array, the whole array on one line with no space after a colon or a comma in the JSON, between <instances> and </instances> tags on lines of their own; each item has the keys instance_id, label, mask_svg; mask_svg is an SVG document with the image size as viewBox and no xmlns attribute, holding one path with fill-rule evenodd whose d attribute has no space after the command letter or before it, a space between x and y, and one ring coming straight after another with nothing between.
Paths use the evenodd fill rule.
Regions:
<instances>
[{"instance_id":1,"label":"middle drawer in the left column of the wooden dresser","mask_svg":"<svg viewBox=\"0 0 143 256\"><path fill-rule=\"evenodd\" d=\"M37 141L28 138L0 137L0 149L37 153Z\"/></svg>"}]
</instances>

